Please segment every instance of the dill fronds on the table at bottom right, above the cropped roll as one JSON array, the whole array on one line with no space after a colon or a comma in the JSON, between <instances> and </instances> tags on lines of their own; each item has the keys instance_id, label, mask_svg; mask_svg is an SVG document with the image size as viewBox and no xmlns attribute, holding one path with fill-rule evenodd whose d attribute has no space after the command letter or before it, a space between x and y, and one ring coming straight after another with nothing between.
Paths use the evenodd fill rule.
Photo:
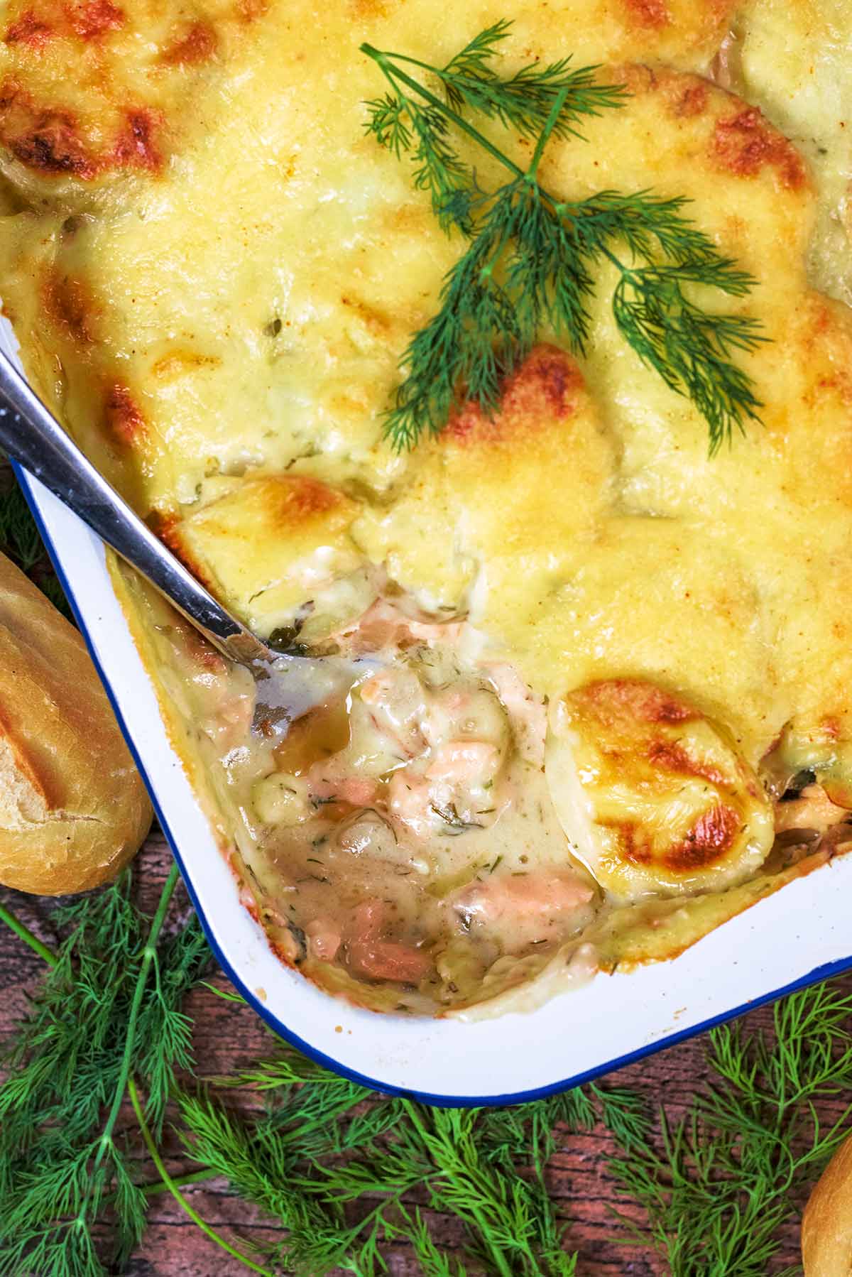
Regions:
<instances>
[{"instance_id":1,"label":"dill fronds on the table at bottom right, above the cropped roll","mask_svg":"<svg viewBox=\"0 0 852 1277\"><path fill-rule=\"evenodd\" d=\"M818 1105L852 1089L852 997L801 990L775 1004L770 1033L724 1025L709 1045L713 1080L687 1116L663 1114L659 1147L634 1145L611 1168L648 1212L646 1230L625 1221L635 1240L677 1277L765 1277L779 1228L848 1134L852 1102L828 1125Z\"/></svg>"}]
</instances>

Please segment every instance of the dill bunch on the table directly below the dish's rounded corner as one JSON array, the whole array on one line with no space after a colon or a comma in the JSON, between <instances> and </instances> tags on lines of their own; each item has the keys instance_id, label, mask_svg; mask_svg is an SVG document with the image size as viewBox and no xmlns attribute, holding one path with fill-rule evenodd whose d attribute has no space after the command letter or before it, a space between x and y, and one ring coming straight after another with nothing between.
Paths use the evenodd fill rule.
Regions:
<instances>
[{"instance_id":1,"label":"dill bunch on the table directly below the dish's rounded corner","mask_svg":"<svg viewBox=\"0 0 852 1277\"><path fill-rule=\"evenodd\" d=\"M335 1267L384 1272L382 1246L401 1239L436 1277L464 1274L468 1263L503 1277L568 1277L576 1260L563 1250L544 1181L556 1131L591 1129L604 1115L631 1139L646 1129L644 1106L627 1091L594 1085L513 1108L429 1108L370 1094L287 1047L222 1082L253 1085L266 1114L245 1120L209 1092L183 1096L186 1152L289 1230L271 1258L310 1277ZM407 1204L418 1194L464 1222L465 1255L439 1250Z\"/></svg>"}]
</instances>

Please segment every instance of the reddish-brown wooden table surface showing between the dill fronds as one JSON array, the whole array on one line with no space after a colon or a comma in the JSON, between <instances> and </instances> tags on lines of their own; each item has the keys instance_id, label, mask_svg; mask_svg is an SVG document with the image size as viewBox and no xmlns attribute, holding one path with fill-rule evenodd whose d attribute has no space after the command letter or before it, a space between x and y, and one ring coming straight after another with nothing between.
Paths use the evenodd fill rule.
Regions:
<instances>
[{"instance_id":1,"label":"reddish-brown wooden table surface showing between the dill fronds","mask_svg":"<svg viewBox=\"0 0 852 1277\"><path fill-rule=\"evenodd\" d=\"M137 862L144 904L156 899L169 863L162 838L153 834ZM55 940L46 902L3 889L0 900L47 942ZM0 987L4 991L0 1038L10 1033L20 1015L26 991L37 979L40 968L38 958L0 926ZM217 982L227 987L225 977L218 977ZM846 985L852 991L852 977ZM268 1051L268 1031L249 1008L225 1002L201 988L192 995L188 1010L195 1019L199 1073L229 1073ZM759 1009L750 1013L746 1022L756 1029L768 1024L770 1016L769 1009ZM703 1046L700 1038L694 1038L620 1070L613 1079L641 1091L653 1106L664 1099L669 1116L676 1117L688 1103L703 1075ZM232 1101L236 1105L252 1102L250 1097L240 1094L232 1094ZM842 1102L838 1097L837 1106ZM830 1114L832 1106L826 1105L820 1116L828 1119ZM561 1142L551 1162L551 1191L559 1202L559 1213L570 1221L567 1241L580 1255L577 1277L657 1277L667 1272L666 1266L651 1253L626 1245L625 1228L612 1218L613 1207L623 1209L623 1202L607 1174L607 1156L612 1151L612 1140L603 1129L571 1134ZM170 1152L174 1154L175 1149ZM167 1165L172 1174L185 1167L179 1156L169 1157ZM276 1231L267 1218L230 1195L225 1181L211 1180L185 1191L195 1209L217 1230L235 1230L257 1240ZM637 1212L634 1217L641 1218ZM152 1200L144 1244L128 1269L129 1277L244 1277L247 1273L248 1269L208 1241L170 1197ZM443 1244L461 1244L460 1228L453 1220L433 1217L432 1223ZM784 1237L779 1267L793 1264L797 1259L797 1228L791 1227ZM420 1272L406 1246L390 1248L388 1267L393 1277L415 1277ZM732 1271L729 1277L737 1277L736 1272Z\"/></svg>"}]
</instances>

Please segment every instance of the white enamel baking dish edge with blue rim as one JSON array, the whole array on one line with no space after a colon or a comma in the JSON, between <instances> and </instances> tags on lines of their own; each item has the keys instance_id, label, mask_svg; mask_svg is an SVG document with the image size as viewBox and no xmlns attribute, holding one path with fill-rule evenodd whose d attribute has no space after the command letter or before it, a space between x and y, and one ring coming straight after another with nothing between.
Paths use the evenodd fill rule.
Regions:
<instances>
[{"instance_id":1,"label":"white enamel baking dish edge with blue rim","mask_svg":"<svg viewBox=\"0 0 852 1277\"><path fill-rule=\"evenodd\" d=\"M15 342L3 323L0 342ZM430 1103L508 1103L572 1087L780 994L852 968L852 856L796 880L671 962L598 976L538 1010L475 1023L378 1015L284 967L172 751L98 539L19 472L213 951L281 1037L368 1087Z\"/></svg>"}]
</instances>

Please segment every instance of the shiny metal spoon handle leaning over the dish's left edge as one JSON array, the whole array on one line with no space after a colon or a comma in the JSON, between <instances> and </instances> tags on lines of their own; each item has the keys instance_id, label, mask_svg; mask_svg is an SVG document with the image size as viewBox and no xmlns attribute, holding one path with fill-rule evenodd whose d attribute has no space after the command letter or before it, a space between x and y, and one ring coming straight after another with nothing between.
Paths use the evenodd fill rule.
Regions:
<instances>
[{"instance_id":1,"label":"shiny metal spoon handle leaning over the dish's left edge","mask_svg":"<svg viewBox=\"0 0 852 1277\"><path fill-rule=\"evenodd\" d=\"M225 656L240 664L272 659L98 474L3 351L0 448L165 594Z\"/></svg>"}]
</instances>

